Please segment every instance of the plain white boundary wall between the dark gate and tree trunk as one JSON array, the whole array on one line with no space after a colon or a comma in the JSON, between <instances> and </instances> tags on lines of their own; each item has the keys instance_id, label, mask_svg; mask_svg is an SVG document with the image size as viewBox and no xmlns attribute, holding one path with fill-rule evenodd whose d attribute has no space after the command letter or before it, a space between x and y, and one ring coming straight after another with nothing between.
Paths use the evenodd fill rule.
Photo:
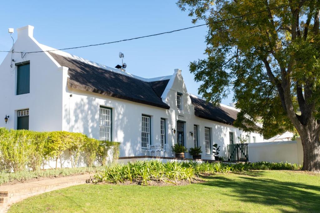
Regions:
<instances>
[{"instance_id":1,"label":"plain white boundary wall between the dark gate and tree trunk","mask_svg":"<svg viewBox=\"0 0 320 213\"><path fill-rule=\"evenodd\" d=\"M249 161L303 163L303 148L301 139L296 141L276 141L249 143Z\"/></svg>"}]
</instances>

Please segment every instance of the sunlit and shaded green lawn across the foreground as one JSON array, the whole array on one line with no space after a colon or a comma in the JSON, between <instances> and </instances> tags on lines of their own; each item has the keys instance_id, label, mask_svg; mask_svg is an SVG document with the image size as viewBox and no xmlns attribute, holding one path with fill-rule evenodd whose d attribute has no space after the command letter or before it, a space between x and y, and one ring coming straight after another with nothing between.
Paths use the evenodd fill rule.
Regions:
<instances>
[{"instance_id":1,"label":"sunlit and shaded green lawn across the foreground","mask_svg":"<svg viewBox=\"0 0 320 213\"><path fill-rule=\"evenodd\" d=\"M320 212L320 175L218 174L187 186L78 185L28 198L12 212Z\"/></svg>"}]
</instances>

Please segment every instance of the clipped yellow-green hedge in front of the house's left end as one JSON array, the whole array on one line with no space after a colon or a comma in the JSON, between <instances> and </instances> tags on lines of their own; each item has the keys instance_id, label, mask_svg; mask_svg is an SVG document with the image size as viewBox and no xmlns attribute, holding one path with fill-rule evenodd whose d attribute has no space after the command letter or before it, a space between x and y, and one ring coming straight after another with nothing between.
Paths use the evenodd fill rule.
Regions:
<instances>
[{"instance_id":1,"label":"clipped yellow-green hedge in front of the house's left end","mask_svg":"<svg viewBox=\"0 0 320 213\"><path fill-rule=\"evenodd\" d=\"M72 167L77 166L79 156L84 155L85 163L93 166L97 161L105 165L108 150L112 149L113 160L119 156L119 142L99 141L82 133L66 131L35 132L30 130L8 130L0 128L0 170L33 171L44 166L50 159L58 159L67 150Z\"/></svg>"}]
</instances>

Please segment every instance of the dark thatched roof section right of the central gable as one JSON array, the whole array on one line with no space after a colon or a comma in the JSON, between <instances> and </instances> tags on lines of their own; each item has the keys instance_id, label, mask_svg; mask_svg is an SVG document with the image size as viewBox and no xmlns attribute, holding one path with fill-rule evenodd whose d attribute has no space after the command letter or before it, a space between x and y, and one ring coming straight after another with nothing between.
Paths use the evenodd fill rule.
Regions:
<instances>
[{"instance_id":1,"label":"dark thatched roof section right of the central gable","mask_svg":"<svg viewBox=\"0 0 320 213\"><path fill-rule=\"evenodd\" d=\"M204 118L216 121L223 124L233 125L237 118L238 111L224 106L214 106L201 98L190 95L192 105L195 107L195 115L199 118Z\"/></svg>"}]
</instances>

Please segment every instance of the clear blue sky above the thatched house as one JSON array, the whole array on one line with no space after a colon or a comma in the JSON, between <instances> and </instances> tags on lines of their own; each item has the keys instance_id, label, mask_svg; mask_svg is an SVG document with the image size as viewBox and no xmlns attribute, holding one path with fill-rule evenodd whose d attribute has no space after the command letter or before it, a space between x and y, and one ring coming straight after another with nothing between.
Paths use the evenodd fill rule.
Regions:
<instances>
[{"instance_id":1,"label":"clear blue sky above the thatched house","mask_svg":"<svg viewBox=\"0 0 320 213\"><path fill-rule=\"evenodd\" d=\"M32 25L35 39L53 48L117 41L193 26L188 12L175 1L3 1L0 8L0 50L9 50L8 28ZM204 58L207 28L164 34L139 40L67 50L79 57L114 67L124 53L127 72L153 78L182 70L189 93L199 83L189 72L190 61ZM16 39L17 33L13 34ZM2 62L5 53L0 53ZM229 104L230 96L222 103Z\"/></svg>"}]
</instances>

